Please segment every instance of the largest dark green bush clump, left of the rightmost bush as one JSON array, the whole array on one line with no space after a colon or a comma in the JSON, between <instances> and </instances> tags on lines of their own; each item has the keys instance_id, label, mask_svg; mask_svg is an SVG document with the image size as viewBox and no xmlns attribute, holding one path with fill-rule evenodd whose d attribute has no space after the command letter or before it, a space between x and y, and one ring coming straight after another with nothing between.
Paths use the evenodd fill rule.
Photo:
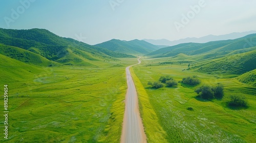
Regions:
<instances>
[{"instance_id":1,"label":"largest dark green bush clump, left of the rightmost bush","mask_svg":"<svg viewBox=\"0 0 256 143\"><path fill-rule=\"evenodd\" d=\"M216 86L210 85L202 85L197 88L195 92L197 92L198 96L202 99L221 99L224 96L224 87L222 84L217 84Z\"/></svg>"}]
</instances>

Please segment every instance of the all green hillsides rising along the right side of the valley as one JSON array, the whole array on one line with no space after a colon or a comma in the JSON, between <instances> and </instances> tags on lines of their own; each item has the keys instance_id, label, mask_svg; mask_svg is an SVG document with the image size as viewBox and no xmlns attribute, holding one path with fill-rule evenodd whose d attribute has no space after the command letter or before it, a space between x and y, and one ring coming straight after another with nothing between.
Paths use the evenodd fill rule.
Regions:
<instances>
[{"instance_id":1,"label":"all green hillsides rising along the right side of the valley","mask_svg":"<svg viewBox=\"0 0 256 143\"><path fill-rule=\"evenodd\" d=\"M232 40L206 43L181 43L163 47L146 54L147 58L163 58L159 64L187 64L183 70L218 76L238 77L238 80L256 86L256 34ZM150 63L151 64L151 63ZM190 65L190 66L189 66Z\"/></svg>"}]
</instances>

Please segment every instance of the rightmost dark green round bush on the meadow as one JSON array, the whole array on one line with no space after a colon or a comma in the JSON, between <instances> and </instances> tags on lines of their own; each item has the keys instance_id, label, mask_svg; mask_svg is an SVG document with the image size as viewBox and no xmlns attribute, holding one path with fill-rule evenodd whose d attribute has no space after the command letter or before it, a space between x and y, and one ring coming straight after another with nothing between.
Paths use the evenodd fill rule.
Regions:
<instances>
[{"instance_id":1,"label":"rightmost dark green round bush on the meadow","mask_svg":"<svg viewBox=\"0 0 256 143\"><path fill-rule=\"evenodd\" d=\"M239 95L232 95L230 96L230 102L228 103L229 106L235 107L247 107L248 103L245 97Z\"/></svg>"}]
</instances>

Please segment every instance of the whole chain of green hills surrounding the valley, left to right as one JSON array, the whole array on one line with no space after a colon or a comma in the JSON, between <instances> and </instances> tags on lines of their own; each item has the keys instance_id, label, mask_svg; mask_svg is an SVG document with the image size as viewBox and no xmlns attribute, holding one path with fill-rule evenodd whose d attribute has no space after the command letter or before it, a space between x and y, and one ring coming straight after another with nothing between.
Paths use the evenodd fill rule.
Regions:
<instances>
[{"instance_id":1,"label":"whole chain of green hills surrounding the valley, left to right","mask_svg":"<svg viewBox=\"0 0 256 143\"><path fill-rule=\"evenodd\" d=\"M230 35L226 37L231 37ZM241 82L256 86L255 41L256 34L249 34L231 40L189 42L167 47L137 39L131 41L112 39L89 45L71 38L59 37L45 29L0 28L0 67L26 66L30 68L29 71L24 70L25 74L26 72L28 74L30 71L39 70L39 66L102 66L111 60L120 60L118 58L145 55L147 58L167 57L164 58L166 61L159 64L191 64L187 70L217 75L241 75L238 77ZM34 65L33 68L30 65ZM23 71L22 68L18 69ZM0 70L8 73L6 69L0 68ZM12 74L15 78L19 78L19 75Z\"/></svg>"}]
</instances>

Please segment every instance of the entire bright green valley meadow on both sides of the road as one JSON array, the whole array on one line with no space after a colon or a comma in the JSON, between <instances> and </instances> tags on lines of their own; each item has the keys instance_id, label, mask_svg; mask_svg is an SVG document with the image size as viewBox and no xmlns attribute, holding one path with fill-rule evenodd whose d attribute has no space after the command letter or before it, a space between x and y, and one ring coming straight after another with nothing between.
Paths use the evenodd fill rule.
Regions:
<instances>
[{"instance_id":1,"label":"entire bright green valley meadow on both sides of the road","mask_svg":"<svg viewBox=\"0 0 256 143\"><path fill-rule=\"evenodd\" d=\"M188 63L181 63L180 56L184 55L172 59L143 57L141 64L131 68L147 142L256 140L256 89L251 82L239 81L253 74L237 78L199 73L199 67L188 70ZM125 67L137 63L136 58L51 67L3 55L0 59L4 75L0 84L8 84L10 111L9 139L1 138L1 142L120 142L127 88ZM222 100L202 100L194 91L200 85L180 82L176 87L160 89L147 85L165 75L176 81L196 75L200 85L222 83L225 96ZM227 106L229 96L237 93L247 98L248 108ZM4 129L4 117L1 121L0 128Z\"/></svg>"}]
</instances>

